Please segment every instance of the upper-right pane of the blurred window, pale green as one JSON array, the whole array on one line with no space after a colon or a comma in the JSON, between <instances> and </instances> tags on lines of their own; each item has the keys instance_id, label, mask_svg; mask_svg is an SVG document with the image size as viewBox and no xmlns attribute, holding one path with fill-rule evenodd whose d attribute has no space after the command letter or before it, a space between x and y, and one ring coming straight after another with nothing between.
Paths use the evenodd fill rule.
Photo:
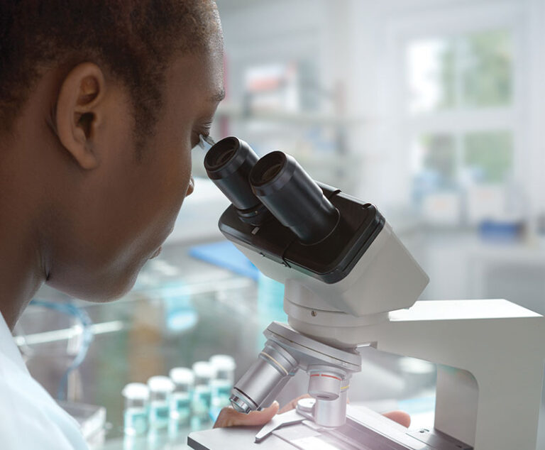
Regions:
<instances>
[{"instance_id":1,"label":"upper-right pane of the blurred window, pale green","mask_svg":"<svg viewBox=\"0 0 545 450\"><path fill-rule=\"evenodd\" d=\"M512 101L512 33L483 31L461 38L463 106L505 106Z\"/></svg>"}]
</instances>

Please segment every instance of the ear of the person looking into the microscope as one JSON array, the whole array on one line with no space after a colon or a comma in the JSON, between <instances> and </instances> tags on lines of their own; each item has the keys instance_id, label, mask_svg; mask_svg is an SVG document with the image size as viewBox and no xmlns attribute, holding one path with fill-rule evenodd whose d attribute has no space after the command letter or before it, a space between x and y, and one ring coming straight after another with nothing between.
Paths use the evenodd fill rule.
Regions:
<instances>
[{"instance_id":1,"label":"ear of the person looking into the microscope","mask_svg":"<svg viewBox=\"0 0 545 450\"><path fill-rule=\"evenodd\" d=\"M60 142L79 166L88 170L99 165L95 143L104 119L105 89L100 67L84 62L65 77L57 98L55 125Z\"/></svg>"}]
</instances>

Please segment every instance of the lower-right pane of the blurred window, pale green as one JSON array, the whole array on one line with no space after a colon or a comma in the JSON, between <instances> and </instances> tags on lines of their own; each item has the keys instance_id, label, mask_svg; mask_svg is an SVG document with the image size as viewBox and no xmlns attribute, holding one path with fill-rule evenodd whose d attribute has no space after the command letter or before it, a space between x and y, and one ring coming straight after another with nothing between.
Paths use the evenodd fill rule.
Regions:
<instances>
[{"instance_id":1,"label":"lower-right pane of the blurred window, pale green","mask_svg":"<svg viewBox=\"0 0 545 450\"><path fill-rule=\"evenodd\" d=\"M475 182L500 183L513 165L510 131L468 133L463 138L464 165Z\"/></svg>"}]
</instances>

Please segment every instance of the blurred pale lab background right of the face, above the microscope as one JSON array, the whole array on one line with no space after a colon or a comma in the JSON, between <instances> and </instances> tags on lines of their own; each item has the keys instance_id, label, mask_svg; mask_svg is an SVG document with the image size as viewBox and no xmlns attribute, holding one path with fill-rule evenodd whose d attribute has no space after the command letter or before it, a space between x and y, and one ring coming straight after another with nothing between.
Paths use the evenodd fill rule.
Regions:
<instances>
[{"instance_id":1,"label":"blurred pale lab background right of the face, above the microscope","mask_svg":"<svg viewBox=\"0 0 545 450\"><path fill-rule=\"evenodd\" d=\"M545 312L543 1L218 4L214 137L376 204L429 273L424 298Z\"/></svg>"}]
</instances>

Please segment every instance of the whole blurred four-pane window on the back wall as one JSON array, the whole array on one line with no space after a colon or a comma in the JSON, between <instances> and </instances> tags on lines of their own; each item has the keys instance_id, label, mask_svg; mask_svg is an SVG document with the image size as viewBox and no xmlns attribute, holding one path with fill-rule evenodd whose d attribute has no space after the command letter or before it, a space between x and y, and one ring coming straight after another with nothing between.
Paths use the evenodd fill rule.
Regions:
<instances>
[{"instance_id":1,"label":"whole blurred four-pane window on the back wall","mask_svg":"<svg viewBox=\"0 0 545 450\"><path fill-rule=\"evenodd\" d=\"M457 196L458 210L446 214L459 223L473 187L501 189L513 177L514 35L506 27L412 38L403 54L412 198L425 215L434 197Z\"/></svg>"}]
</instances>

